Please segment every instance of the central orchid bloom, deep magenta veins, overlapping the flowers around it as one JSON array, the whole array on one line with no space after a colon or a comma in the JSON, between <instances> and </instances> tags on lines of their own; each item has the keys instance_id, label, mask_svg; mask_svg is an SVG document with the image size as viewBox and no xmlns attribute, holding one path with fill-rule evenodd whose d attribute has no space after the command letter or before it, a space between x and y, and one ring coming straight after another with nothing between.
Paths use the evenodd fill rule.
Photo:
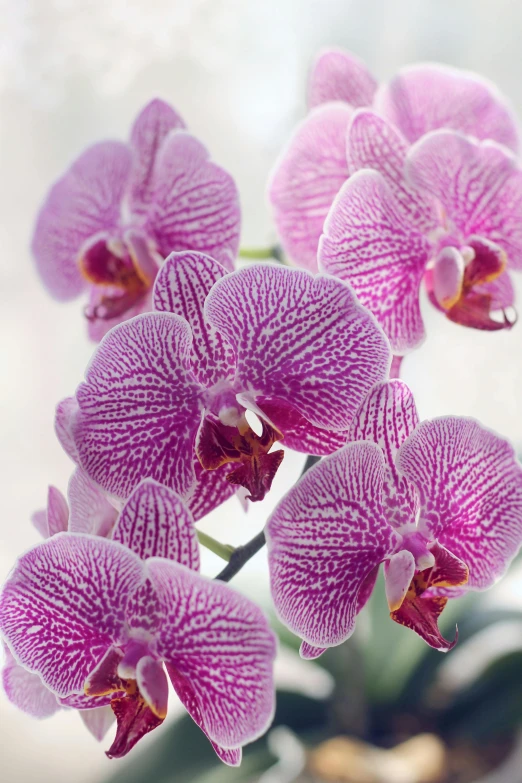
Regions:
<instances>
[{"instance_id":1,"label":"central orchid bloom, deep magenta veins, overlapping the flowers around it","mask_svg":"<svg viewBox=\"0 0 522 783\"><path fill-rule=\"evenodd\" d=\"M146 477L194 496L198 459L207 475L232 465L224 483L261 500L283 457L276 441L334 451L387 377L382 330L333 277L276 265L226 274L209 256L173 253L154 305L106 335L58 408L62 443L116 499Z\"/></svg>"}]
</instances>

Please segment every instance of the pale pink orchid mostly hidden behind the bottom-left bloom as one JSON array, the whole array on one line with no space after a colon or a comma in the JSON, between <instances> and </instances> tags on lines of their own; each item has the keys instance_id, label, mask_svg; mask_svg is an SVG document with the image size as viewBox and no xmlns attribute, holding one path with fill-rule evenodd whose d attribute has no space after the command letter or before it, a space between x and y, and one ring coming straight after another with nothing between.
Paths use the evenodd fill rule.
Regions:
<instances>
[{"instance_id":1,"label":"pale pink orchid mostly hidden behind the bottom-left bloom","mask_svg":"<svg viewBox=\"0 0 522 783\"><path fill-rule=\"evenodd\" d=\"M47 508L33 514L32 521L45 539L67 530L107 536L111 533L117 511L81 470L71 476L68 499L56 487L50 486ZM9 701L35 718L47 718L64 709L59 699L37 674L17 663L4 644L5 663L2 684ZM102 740L114 720L108 705L78 710L85 726L97 739Z\"/></svg>"}]
</instances>

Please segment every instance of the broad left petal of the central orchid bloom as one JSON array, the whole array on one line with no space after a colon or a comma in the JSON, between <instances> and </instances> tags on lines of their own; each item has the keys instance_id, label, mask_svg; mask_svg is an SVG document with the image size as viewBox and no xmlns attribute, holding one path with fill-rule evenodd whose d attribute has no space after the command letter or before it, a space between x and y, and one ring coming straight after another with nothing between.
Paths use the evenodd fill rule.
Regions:
<instances>
[{"instance_id":1,"label":"broad left petal of the central orchid bloom","mask_svg":"<svg viewBox=\"0 0 522 783\"><path fill-rule=\"evenodd\" d=\"M184 319L147 313L98 346L76 392L73 432L82 468L111 495L128 497L143 478L180 495L193 484L201 387L191 343Z\"/></svg>"}]
</instances>

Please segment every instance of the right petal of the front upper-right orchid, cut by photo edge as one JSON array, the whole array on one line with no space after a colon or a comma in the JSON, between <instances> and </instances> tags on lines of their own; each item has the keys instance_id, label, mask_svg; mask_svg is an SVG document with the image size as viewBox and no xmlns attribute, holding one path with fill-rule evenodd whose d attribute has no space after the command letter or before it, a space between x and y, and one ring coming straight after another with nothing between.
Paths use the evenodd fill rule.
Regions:
<instances>
[{"instance_id":1,"label":"right petal of the front upper-right orchid, cut by photo edge","mask_svg":"<svg viewBox=\"0 0 522 783\"><path fill-rule=\"evenodd\" d=\"M434 131L410 149L406 175L440 200L463 240L489 239L522 268L522 170L514 155L491 141Z\"/></svg>"}]
</instances>

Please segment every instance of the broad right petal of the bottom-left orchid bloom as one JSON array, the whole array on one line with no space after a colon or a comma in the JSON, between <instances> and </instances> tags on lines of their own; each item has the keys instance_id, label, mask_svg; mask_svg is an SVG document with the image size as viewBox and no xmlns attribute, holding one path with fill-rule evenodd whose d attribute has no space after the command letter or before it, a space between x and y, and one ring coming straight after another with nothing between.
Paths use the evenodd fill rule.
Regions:
<instances>
[{"instance_id":1,"label":"broad right petal of the bottom-left orchid bloom","mask_svg":"<svg viewBox=\"0 0 522 783\"><path fill-rule=\"evenodd\" d=\"M274 711L275 639L261 610L171 561L147 565L166 615L158 653L190 683L205 733L225 748L253 741Z\"/></svg>"}]
</instances>

